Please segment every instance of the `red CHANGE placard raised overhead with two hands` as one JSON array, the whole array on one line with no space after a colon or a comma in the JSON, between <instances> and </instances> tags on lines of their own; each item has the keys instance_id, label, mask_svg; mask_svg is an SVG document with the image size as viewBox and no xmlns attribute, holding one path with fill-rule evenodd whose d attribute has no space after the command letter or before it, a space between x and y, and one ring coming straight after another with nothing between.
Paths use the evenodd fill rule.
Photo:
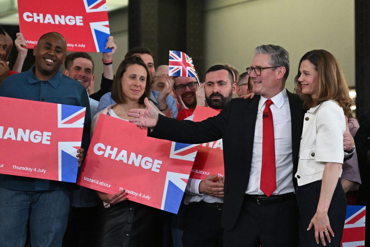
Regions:
<instances>
[{"instance_id":1,"label":"red CHANGE placard raised overhead with two hands","mask_svg":"<svg viewBox=\"0 0 370 247\"><path fill-rule=\"evenodd\" d=\"M41 35L58 32L68 51L109 52L105 0L18 0L19 28L27 48L33 49Z\"/></svg>"}]
</instances>

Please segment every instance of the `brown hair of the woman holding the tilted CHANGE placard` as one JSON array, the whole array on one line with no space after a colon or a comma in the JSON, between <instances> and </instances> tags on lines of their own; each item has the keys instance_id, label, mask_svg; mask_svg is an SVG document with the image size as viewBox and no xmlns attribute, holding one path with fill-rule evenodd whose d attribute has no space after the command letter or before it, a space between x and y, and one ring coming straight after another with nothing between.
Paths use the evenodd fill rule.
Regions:
<instances>
[{"instance_id":1,"label":"brown hair of the woman holding the tilted CHANGE placard","mask_svg":"<svg viewBox=\"0 0 370 247\"><path fill-rule=\"evenodd\" d=\"M126 102L124 94L123 94L123 90L122 90L121 80L122 80L123 74L127 71L128 66L133 65L133 64L141 65L147 71L147 80L146 80L146 84L145 84L145 91L144 91L144 94L139 99L139 104L144 104L145 97L149 98L150 82L152 80L151 74L148 70L148 67L145 65L144 61L142 61L142 59L139 56L136 55L136 56L125 58L121 62L120 66L118 66L116 75L115 75L114 80L113 80L112 93L111 93L112 100L114 100L118 104Z\"/></svg>"}]
</instances>

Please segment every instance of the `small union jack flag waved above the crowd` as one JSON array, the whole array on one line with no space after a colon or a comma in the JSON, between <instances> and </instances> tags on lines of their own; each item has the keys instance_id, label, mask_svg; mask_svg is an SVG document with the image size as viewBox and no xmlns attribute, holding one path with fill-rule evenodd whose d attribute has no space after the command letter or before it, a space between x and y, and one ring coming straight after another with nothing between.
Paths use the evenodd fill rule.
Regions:
<instances>
[{"instance_id":1,"label":"small union jack flag waved above the crowd","mask_svg":"<svg viewBox=\"0 0 370 247\"><path fill-rule=\"evenodd\" d=\"M168 66L169 76L198 78L192 58L182 51L169 51Z\"/></svg>"}]
</instances>

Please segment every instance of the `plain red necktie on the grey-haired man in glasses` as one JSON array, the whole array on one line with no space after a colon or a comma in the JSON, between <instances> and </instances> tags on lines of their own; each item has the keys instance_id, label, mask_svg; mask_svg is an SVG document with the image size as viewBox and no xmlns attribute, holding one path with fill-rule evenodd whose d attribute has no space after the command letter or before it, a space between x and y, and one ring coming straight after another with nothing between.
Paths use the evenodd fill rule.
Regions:
<instances>
[{"instance_id":1,"label":"plain red necktie on the grey-haired man in glasses","mask_svg":"<svg viewBox=\"0 0 370 247\"><path fill-rule=\"evenodd\" d=\"M266 106L262 116L263 135L260 189L266 196L271 196L276 190L274 123L270 109L272 103L272 100L266 100Z\"/></svg>"}]
</instances>

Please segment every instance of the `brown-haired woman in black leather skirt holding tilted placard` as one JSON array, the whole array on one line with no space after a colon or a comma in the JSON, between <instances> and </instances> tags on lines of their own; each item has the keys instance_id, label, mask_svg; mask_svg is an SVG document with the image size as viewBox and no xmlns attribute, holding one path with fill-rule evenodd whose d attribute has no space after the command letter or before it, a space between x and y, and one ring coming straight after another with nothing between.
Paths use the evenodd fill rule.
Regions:
<instances>
[{"instance_id":1,"label":"brown-haired woman in black leather skirt holding tilted placard","mask_svg":"<svg viewBox=\"0 0 370 247\"><path fill-rule=\"evenodd\" d=\"M127 117L129 109L145 108L144 99L149 97L150 83L151 74L144 61L139 56L125 58L117 69L112 85L111 97L117 105L95 115L92 132L100 114L128 121L131 119ZM151 106L155 107L154 104ZM125 190L114 195L97 193L104 202L100 206L98 246L162 246L161 210L128 201Z\"/></svg>"}]
</instances>

